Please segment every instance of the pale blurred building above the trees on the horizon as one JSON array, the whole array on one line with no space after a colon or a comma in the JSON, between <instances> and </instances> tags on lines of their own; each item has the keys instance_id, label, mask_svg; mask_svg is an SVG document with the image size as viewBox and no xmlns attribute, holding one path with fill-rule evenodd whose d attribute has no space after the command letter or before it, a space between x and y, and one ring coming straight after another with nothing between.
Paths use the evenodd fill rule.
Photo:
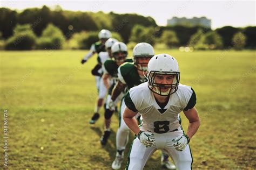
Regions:
<instances>
[{"instance_id":1,"label":"pale blurred building above the trees on the horizon","mask_svg":"<svg viewBox=\"0 0 256 170\"><path fill-rule=\"evenodd\" d=\"M207 19L206 17L193 17L193 18L178 18L178 17L173 17L172 19L167 20L167 25L187 25L187 26L196 26L196 25L201 25L205 26L208 28L211 28L211 19Z\"/></svg>"}]
</instances>

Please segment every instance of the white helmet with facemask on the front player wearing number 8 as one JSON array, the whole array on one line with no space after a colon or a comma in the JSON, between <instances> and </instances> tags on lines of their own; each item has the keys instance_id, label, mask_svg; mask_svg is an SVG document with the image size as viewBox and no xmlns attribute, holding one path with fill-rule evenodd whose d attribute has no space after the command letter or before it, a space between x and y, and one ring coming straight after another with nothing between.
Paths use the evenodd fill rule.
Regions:
<instances>
[{"instance_id":1,"label":"white helmet with facemask on the front player wearing number 8","mask_svg":"<svg viewBox=\"0 0 256 170\"><path fill-rule=\"evenodd\" d=\"M174 75L171 84L156 83L157 75ZM149 89L161 96L169 96L178 90L180 71L177 60L168 54L154 55L147 65Z\"/></svg>"}]
</instances>

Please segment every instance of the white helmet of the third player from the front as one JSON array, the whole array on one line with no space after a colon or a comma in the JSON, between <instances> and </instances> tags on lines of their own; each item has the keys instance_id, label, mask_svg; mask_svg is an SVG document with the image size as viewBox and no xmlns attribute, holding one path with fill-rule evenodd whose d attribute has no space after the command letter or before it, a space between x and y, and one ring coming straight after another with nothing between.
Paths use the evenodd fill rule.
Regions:
<instances>
[{"instance_id":1,"label":"white helmet of the third player from the front","mask_svg":"<svg viewBox=\"0 0 256 170\"><path fill-rule=\"evenodd\" d=\"M111 47L111 53L117 65L119 66L124 63L126 59L128 54L127 46L124 44L124 42L115 42Z\"/></svg>"}]
</instances>

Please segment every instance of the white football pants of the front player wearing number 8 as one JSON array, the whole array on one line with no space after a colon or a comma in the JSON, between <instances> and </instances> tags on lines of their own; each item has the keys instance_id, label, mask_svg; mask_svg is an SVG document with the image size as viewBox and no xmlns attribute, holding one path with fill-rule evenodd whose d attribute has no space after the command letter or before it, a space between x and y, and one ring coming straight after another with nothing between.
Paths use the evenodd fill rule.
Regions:
<instances>
[{"instance_id":1,"label":"white football pants of the front player wearing number 8","mask_svg":"<svg viewBox=\"0 0 256 170\"><path fill-rule=\"evenodd\" d=\"M174 132L162 134L155 133L156 144L152 145L151 147L146 147L140 143L139 139L136 137L133 140L130 152L128 154L126 169L143 169L146 161L158 149L165 150L170 155L177 169L192 169L193 158L190 151L190 146L187 145L183 151L177 151L173 147L172 139L182 135L183 130L181 130L181 128Z\"/></svg>"}]
</instances>

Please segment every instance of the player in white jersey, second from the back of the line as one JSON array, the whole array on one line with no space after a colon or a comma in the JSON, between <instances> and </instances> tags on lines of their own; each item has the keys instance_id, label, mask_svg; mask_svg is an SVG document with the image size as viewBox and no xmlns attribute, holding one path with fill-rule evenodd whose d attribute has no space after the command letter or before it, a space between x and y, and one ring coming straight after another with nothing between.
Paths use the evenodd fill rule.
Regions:
<instances>
[{"instance_id":1,"label":"player in white jersey, second from the back of the line","mask_svg":"<svg viewBox=\"0 0 256 170\"><path fill-rule=\"evenodd\" d=\"M107 59L112 58L112 53L111 53L111 47L112 45L118 42L117 39L114 38L109 38L106 42L105 42L105 47L106 47L106 51L107 52L100 52L99 56L98 56L98 66L100 67L100 69L93 69L92 70L92 74L95 76L102 76L102 66L104 65L104 62ZM103 105L103 101L104 101L104 97L106 96L107 93L107 88L104 85L103 79L99 80L99 88L98 88L98 102L97 102L97 112L95 112L95 114L93 114L91 120L90 120L90 124L95 124L95 122L98 120L99 118L99 113L98 113L98 109L100 107L102 107Z\"/></svg>"}]
</instances>

